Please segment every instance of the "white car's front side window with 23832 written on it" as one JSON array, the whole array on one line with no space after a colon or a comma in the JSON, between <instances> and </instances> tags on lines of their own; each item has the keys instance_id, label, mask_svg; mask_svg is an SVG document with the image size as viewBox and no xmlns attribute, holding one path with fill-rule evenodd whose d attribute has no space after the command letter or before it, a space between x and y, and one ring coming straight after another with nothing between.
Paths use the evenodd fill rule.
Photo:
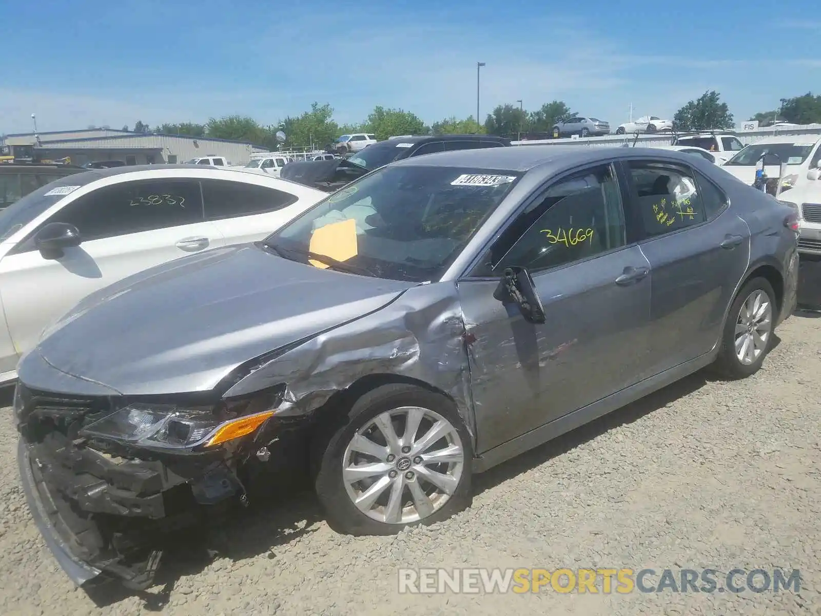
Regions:
<instances>
[{"instance_id":1,"label":"white car's front side window with 23832 written on it","mask_svg":"<svg viewBox=\"0 0 821 616\"><path fill-rule=\"evenodd\" d=\"M103 186L83 195L48 219L68 223L83 241L153 231L203 220L200 183L140 180Z\"/></svg>"}]
</instances>

